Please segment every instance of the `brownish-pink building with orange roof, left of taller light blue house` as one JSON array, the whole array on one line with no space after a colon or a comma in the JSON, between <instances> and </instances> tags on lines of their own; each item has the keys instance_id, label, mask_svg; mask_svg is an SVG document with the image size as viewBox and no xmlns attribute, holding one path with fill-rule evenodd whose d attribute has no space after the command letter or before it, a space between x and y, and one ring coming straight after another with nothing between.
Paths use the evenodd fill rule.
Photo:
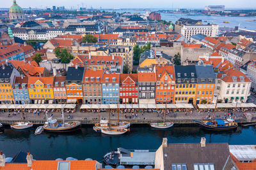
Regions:
<instances>
[{"instance_id":1,"label":"brownish-pink building with orange roof, left of taller light blue house","mask_svg":"<svg viewBox=\"0 0 256 170\"><path fill-rule=\"evenodd\" d=\"M103 70L85 70L83 77L84 104L102 104Z\"/></svg>"}]
</instances>

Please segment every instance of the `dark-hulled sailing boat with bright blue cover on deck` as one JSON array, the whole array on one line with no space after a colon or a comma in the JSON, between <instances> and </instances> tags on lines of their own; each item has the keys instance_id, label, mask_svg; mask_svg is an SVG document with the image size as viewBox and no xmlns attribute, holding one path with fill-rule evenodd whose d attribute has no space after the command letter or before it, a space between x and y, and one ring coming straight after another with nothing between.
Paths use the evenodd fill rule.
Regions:
<instances>
[{"instance_id":1,"label":"dark-hulled sailing boat with bright blue cover on deck","mask_svg":"<svg viewBox=\"0 0 256 170\"><path fill-rule=\"evenodd\" d=\"M204 120L204 121L196 121L198 124L200 124L200 127L202 129L207 129L211 131L229 131L229 130L234 130L237 128L238 124L237 122L234 122L234 119L232 118L215 118L215 113L216 113L216 108L217 108L217 101L218 101L218 96L216 99L216 104L214 108L214 114L211 120Z\"/></svg>"}]
</instances>

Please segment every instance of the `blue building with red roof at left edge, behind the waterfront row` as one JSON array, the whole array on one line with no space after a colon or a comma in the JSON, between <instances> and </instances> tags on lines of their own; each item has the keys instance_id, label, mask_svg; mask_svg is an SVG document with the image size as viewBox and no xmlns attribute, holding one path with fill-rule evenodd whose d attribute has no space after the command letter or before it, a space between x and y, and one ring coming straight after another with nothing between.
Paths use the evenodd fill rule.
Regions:
<instances>
[{"instance_id":1,"label":"blue building with red roof at left edge, behind the waterfront row","mask_svg":"<svg viewBox=\"0 0 256 170\"><path fill-rule=\"evenodd\" d=\"M0 62L8 60L24 60L24 50L19 45L0 45Z\"/></svg>"}]
</instances>

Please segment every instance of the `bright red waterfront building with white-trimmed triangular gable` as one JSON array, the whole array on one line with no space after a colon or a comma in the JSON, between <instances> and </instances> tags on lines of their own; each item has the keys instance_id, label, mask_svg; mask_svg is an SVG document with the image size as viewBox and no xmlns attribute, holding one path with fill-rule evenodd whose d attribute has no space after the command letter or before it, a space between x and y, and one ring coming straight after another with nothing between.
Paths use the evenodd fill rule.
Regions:
<instances>
[{"instance_id":1,"label":"bright red waterfront building with white-trimmed triangular gable","mask_svg":"<svg viewBox=\"0 0 256 170\"><path fill-rule=\"evenodd\" d=\"M120 74L120 103L138 103L138 74Z\"/></svg>"}]
</instances>

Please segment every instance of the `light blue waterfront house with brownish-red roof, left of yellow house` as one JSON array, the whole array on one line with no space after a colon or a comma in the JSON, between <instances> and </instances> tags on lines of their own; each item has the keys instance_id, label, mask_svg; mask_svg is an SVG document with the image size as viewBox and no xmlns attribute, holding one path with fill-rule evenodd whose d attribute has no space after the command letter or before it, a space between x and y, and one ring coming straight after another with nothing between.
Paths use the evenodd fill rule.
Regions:
<instances>
[{"instance_id":1,"label":"light blue waterfront house with brownish-red roof, left of yellow house","mask_svg":"<svg viewBox=\"0 0 256 170\"><path fill-rule=\"evenodd\" d=\"M28 94L28 77L15 77L12 91L15 104L30 103Z\"/></svg>"}]
</instances>

